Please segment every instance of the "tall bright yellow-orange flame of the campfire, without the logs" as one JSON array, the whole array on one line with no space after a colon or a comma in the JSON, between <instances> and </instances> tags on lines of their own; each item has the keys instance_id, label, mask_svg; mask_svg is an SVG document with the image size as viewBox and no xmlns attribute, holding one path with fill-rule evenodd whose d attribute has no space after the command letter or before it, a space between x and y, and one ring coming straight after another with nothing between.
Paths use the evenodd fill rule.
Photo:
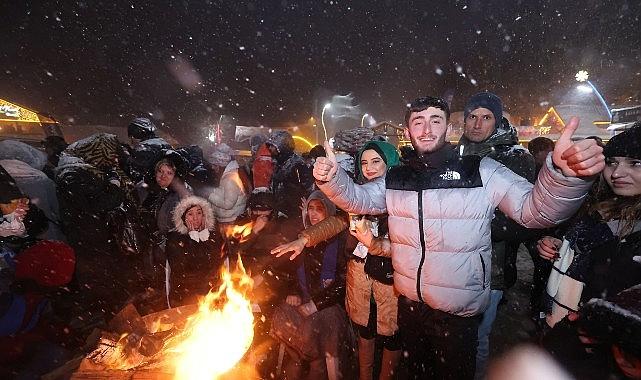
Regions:
<instances>
[{"instance_id":1,"label":"tall bright yellow-orange flame of the campfire, without the logs","mask_svg":"<svg viewBox=\"0 0 641 380\"><path fill-rule=\"evenodd\" d=\"M253 281L240 260L236 271L221 270L222 284L200 302L178 344L176 379L215 379L236 365L254 338L254 316L246 294Z\"/></svg>"}]
</instances>

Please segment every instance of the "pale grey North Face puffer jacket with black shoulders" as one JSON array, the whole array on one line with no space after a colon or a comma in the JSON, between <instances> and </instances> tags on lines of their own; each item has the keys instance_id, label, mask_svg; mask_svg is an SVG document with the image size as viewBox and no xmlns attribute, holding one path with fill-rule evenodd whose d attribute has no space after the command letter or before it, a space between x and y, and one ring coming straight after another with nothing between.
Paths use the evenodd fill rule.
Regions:
<instances>
[{"instance_id":1,"label":"pale grey North Face puffer jacket with black shoulders","mask_svg":"<svg viewBox=\"0 0 641 380\"><path fill-rule=\"evenodd\" d=\"M396 289L460 316L478 315L489 302L494 209L528 228L550 227L576 212L591 185L553 169L550 157L534 186L491 158L462 166L470 160L401 165L362 186L339 170L319 184L348 212L387 212Z\"/></svg>"}]
</instances>

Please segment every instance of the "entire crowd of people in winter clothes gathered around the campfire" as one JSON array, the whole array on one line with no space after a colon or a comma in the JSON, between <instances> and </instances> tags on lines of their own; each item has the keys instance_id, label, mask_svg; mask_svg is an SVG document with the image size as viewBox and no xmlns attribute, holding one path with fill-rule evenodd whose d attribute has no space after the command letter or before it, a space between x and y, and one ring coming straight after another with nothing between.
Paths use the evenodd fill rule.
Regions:
<instances>
[{"instance_id":1,"label":"entire crowd of people in winter clothes gathered around the campfire","mask_svg":"<svg viewBox=\"0 0 641 380\"><path fill-rule=\"evenodd\" d=\"M401 152L355 128L299 155L278 131L242 159L147 118L128 143L1 141L0 374L61 365L129 303L194 304L240 258L256 339L287 353L272 376L482 379L523 245L540 346L578 378L641 379L641 123L603 144L572 119L525 149L490 92L458 145L449 117L414 100Z\"/></svg>"}]
</instances>

